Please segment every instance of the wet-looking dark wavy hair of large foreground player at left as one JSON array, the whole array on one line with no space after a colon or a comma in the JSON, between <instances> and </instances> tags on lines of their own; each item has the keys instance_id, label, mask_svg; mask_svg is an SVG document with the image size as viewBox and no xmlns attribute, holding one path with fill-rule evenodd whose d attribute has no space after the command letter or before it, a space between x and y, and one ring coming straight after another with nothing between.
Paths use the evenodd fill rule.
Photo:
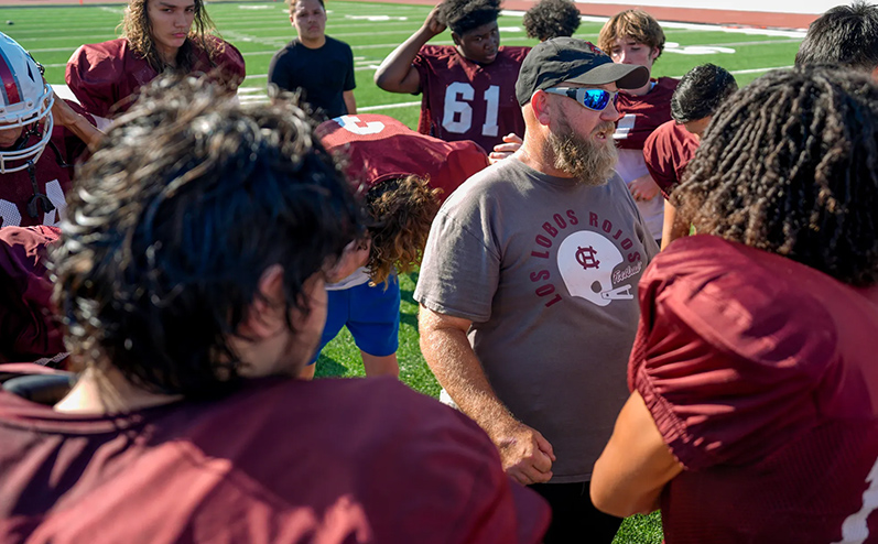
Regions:
<instances>
[{"instance_id":1,"label":"wet-looking dark wavy hair of large foreground player at left","mask_svg":"<svg viewBox=\"0 0 878 544\"><path fill-rule=\"evenodd\" d=\"M296 105L239 106L159 78L78 171L55 301L78 361L152 392L215 396L239 382L228 339L267 268L289 311L361 233L347 181ZM292 323L288 317L288 327Z\"/></svg>"}]
</instances>

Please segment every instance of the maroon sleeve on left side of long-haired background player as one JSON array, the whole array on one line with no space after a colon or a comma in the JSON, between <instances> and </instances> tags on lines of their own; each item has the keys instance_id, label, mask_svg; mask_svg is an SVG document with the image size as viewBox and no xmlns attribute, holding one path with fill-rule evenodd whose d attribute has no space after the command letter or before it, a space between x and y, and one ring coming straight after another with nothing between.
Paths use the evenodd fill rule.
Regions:
<instances>
[{"instance_id":1,"label":"maroon sleeve on left side of long-haired background player","mask_svg":"<svg viewBox=\"0 0 878 544\"><path fill-rule=\"evenodd\" d=\"M126 77L126 52L124 40L86 44L67 62L64 78L88 112L109 118L112 106L130 94L120 88Z\"/></svg>"}]
</instances>

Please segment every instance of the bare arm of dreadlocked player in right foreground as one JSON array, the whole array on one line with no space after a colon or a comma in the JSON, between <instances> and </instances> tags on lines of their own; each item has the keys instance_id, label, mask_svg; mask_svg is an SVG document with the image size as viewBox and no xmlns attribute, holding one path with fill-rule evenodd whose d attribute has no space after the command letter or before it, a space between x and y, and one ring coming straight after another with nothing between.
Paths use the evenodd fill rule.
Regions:
<instances>
[{"instance_id":1,"label":"bare arm of dreadlocked player in right foreground","mask_svg":"<svg viewBox=\"0 0 878 544\"><path fill-rule=\"evenodd\" d=\"M682 470L643 398L633 392L595 463L592 502L598 510L619 518L655 511L662 489Z\"/></svg>"}]
</instances>

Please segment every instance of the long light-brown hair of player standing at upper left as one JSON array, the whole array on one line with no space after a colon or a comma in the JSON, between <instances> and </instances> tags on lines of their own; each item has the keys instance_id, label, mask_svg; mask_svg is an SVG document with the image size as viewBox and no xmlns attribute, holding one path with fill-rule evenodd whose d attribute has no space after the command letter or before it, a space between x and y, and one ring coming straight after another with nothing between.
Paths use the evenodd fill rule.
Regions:
<instances>
[{"instance_id":1,"label":"long light-brown hair of player standing at upper left","mask_svg":"<svg viewBox=\"0 0 878 544\"><path fill-rule=\"evenodd\" d=\"M128 40L131 50L142 56L155 72L165 72L169 66L165 64L155 43L152 41L152 24L148 4L150 0L130 0L124 9L124 15L119 26L122 29L122 36ZM207 14L204 0L195 0L195 19L192 22L192 30L183 45L177 51L176 67L171 72L188 74L195 66L194 47L199 47L207 52L208 58L213 62L217 55L221 54L225 46L220 40L214 40L210 34L216 33L214 21Z\"/></svg>"}]
</instances>

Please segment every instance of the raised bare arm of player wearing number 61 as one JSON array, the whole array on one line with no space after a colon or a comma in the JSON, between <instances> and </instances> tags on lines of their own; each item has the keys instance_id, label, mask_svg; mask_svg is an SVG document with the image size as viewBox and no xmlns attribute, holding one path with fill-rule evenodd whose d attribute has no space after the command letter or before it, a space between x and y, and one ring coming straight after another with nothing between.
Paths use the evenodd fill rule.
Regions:
<instances>
[{"instance_id":1,"label":"raised bare arm of player wearing number 61","mask_svg":"<svg viewBox=\"0 0 878 544\"><path fill-rule=\"evenodd\" d=\"M433 8L424 24L384 58L375 73L375 84L389 93L419 93L421 75L412 62L421 47L444 30L445 25L438 21L438 7Z\"/></svg>"}]
</instances>

